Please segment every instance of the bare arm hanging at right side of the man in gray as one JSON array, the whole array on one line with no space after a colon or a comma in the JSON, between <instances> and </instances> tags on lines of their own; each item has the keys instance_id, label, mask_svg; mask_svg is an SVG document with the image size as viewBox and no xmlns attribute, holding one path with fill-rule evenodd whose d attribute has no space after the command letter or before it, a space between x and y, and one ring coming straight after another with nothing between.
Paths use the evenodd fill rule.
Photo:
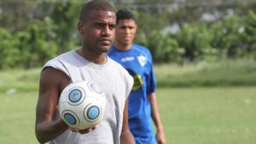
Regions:
<instances>
[{"instance_id":1,"label":"bare arm hanging at right side of the man in gray","mask_svg":"<svg viewBox=\"0 0 256 144\"><path fill-rule=\"evenodd\" d=\"M128 125L128 99L125 100L123 127L120 136L120 142L121 144L135 144L134 138Z\"/></svg>"}]
</instances>

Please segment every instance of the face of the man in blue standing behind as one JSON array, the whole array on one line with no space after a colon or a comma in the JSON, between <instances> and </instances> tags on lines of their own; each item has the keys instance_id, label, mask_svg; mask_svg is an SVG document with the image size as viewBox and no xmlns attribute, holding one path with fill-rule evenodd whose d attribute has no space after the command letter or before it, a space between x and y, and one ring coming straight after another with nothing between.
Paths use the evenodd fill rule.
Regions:
<instances>
[{"instance_id":1,"label":"face of the man in blue standing behind","mask_svg":"<svg viewBox=\"0 0 256 144\"><path fill-rule=\"evenodd\" d=\"M133 19L119 20L116 25L116 42L131 45L136 33L136 22Z\"/></svg>"}]
</instances>

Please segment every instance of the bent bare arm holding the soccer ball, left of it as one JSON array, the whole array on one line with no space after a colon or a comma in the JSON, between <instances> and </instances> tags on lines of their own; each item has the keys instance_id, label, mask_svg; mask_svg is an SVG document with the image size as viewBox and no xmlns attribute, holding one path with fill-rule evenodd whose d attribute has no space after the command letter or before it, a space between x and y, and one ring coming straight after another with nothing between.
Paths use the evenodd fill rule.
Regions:
<instances>
[{"instance_id":1,"label":"bent bare arm holding the soccer ball, left of it","mask_svg":"<svg viewBox=\"0 0 256 144\"><path fill-rule=\"evenodd\" d=\"M36 138L40 143L51 141L68 129L61 117L56 118L55 115L60 92L69 81L69 77L59 70L51 67L42 70L35 126Z\"/></svg>"}]
</instances>

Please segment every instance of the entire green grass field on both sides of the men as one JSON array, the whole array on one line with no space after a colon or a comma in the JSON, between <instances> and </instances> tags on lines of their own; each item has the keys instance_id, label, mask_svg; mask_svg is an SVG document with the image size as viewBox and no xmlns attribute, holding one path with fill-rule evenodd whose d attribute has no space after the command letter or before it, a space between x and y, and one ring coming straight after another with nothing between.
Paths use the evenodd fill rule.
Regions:
<instances>
[{"instance_id":1,"label":"entire green grass field on both sides of the men","mask_svg":"<svg viewBox=\"0 0 256 144\"><path fill-rule=\"evenodd\" d=\"M255 144L256 61L155 65L168 144ZM40 68L0 71L0 144L36 144ZM214 87L212 87L214 86Z\"/></svg>"}]
</instances>

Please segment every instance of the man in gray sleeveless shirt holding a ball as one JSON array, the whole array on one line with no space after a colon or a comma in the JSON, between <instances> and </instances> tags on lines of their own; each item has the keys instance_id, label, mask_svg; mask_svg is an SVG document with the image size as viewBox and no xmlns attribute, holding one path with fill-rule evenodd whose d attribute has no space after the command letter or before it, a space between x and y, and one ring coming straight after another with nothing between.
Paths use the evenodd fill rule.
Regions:
<instances>
[{"instance_id":1,"label":"man in gray sleeveless shirt holding a ball","mask_svg":"<svg viewBox=\"0 0 256 144\"><path fill-rule=\"evenodd\" d=\"M36 138L51 144L134 144L129 131L127 97L133 79L118 63L106 56L115 38L116 15L111 4L86 3L77 24L82 47L47 61L40 75L36 106ZM57 110L60 93L69 83L92 81L107 97L103 120L88 129L68 127Z\"/></svg>"}]
</instances>

